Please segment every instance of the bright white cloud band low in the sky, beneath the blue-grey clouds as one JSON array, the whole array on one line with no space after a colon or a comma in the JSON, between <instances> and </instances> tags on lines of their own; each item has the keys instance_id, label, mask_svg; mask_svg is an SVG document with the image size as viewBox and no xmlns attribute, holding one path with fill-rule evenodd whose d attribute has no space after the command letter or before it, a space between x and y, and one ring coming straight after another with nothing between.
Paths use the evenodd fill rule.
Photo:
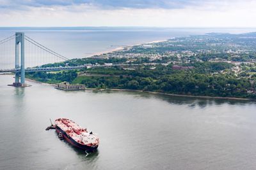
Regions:
<instances>
[{"instance_id":1,"label":"bright white cloud band low in the sky, beneath the blue-grey clouds","mask_svg":"<svg viewBox=\"0 0 256 170\"><path fill-rule=\"evenodd\" d=\"M3 1L3 0L0 0ZM256 1L206 1L180 9L118 8L92 4L0 10L0 26L256 27Z\"/></svg>"}]
</instances>

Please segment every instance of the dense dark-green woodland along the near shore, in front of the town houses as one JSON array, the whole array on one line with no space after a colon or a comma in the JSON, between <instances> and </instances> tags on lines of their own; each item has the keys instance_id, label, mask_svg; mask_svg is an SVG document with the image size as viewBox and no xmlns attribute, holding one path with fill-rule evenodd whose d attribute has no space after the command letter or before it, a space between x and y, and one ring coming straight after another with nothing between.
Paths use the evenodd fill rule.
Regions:
<instances>
[{"instance_id":1,"label":"dense dark-green woodland along the near shore, in front of the town houses","mask_svg":"<svg viewBox=\"0 0 256 170\"><path fill-rule=\"evenodd\" d=\"M256 99L256 95L251 92L256 88L255 83L251 83L252 80L245 77L237 78L232 73L220 73L220 71L230 69L232 64L195 62L186 65L195 68L174 70L172 64L167 66L158 64L155 69L143 65L134 70L122 67L97 67L58 73L35 72L27 76L46 83L68 81L95 89L131 89L193 96Z\"/></svg>"}]
</instances>

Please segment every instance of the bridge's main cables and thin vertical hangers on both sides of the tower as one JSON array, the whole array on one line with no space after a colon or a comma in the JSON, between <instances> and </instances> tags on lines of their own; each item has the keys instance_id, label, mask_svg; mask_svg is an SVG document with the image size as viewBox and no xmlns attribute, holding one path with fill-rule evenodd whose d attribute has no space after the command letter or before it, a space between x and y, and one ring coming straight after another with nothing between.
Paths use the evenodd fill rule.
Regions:
<instances>
[{"instance_id":1,"label":"bridge's main cables and thin vertical hangers on both sides of the tower","mask_svg":"<svg viewBox=\"0 0 256 170\"><path fill-rule=\"evenodd\" d=\"M19 36L22 36L22 34L16 33L0 40L0 73L19 71L21 67L20 56L22 55L20 50L21 43L20 40L17 40L17 38L19 39ZM24 40L25 43L22 45L24 45L25 64L23 66L29 71L37 71L37 69L38 71L56 71L65 69L81 69L84 67L77 63L76 60L70 60L60 53L54 52L46 46L38 43L34 39L29 38L28 36L24 36ZM17 62L19 63L18 67L16 67L17 62L15 62L16 55L19 55L19 57L17 57ZM61 62L64 62L64 64ZM45 64L49 65L40 67Z\"/></svg>"}]
</instances>

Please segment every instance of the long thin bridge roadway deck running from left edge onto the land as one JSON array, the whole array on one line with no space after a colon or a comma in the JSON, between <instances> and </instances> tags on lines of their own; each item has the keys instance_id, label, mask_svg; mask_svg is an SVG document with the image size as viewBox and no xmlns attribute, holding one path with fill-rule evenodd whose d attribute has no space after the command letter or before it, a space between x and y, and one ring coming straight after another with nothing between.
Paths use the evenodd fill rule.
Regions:
<instances>
[{"instance_id":1,"label":"long thin bridge roadway deck running from left edge onto the land","mask_svg":"<svg viewBox=\"0 0 256 170\"><path fill-rule=\"evenodd\" d=\"M84 66L70 66L70 67L32 67L26 68L26 72L35 72L35 71L61 71L61 70L71 70L71 69L83 69L89 67L114 67L114 66L139 66L140 64L104 64L104 65L92 65L86 64ZM0 70L0 73L17 73L20 72L20 69L3 69Z\"/></svg>"}]
</instances>

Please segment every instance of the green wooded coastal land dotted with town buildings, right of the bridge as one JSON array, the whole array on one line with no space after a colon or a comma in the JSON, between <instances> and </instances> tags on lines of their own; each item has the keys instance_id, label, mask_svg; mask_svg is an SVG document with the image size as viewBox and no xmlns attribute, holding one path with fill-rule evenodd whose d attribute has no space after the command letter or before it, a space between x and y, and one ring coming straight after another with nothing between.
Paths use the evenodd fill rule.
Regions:
<instances>
[{"instance_id":1,"label":"green wooded coastal land dotted with town buildings, right of the bridge","mask_svg":"<svg viewBox=\"0 0 256 170\"><path fill-rule=\"evenodd\" d=\"M253 32L172 38L42 66L72 66L76 62L84 64L85 69L28 76L96 89L255 98L255 38Z\"/></svg>"}]
</instances>

